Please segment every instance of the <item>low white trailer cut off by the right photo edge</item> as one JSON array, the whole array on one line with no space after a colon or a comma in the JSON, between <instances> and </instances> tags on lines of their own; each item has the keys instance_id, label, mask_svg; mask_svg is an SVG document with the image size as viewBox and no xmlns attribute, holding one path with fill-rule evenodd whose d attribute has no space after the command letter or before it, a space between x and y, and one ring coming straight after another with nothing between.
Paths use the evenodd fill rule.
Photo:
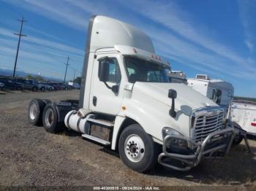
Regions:
<instances>
[{"instance_id":1,"label":"low white trailer cut off by the right photo edge","mask_svg":"<svg viewBox=\"0 0 256 191\"><path fill-rule=\"evenodd\" d=\"M230 104L230 117L247 134L256 136L256 103L251 101L232 101Z\"/></svg>"}]
</instances>

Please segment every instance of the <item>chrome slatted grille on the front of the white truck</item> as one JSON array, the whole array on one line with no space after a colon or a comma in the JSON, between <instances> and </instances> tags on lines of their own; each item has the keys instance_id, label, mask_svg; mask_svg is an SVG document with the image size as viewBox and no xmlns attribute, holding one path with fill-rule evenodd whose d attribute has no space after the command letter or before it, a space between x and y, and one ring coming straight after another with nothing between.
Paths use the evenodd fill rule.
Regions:
<instances>
[{"instance_id":1,"label":"chrome slatted grille on the front of the white truck","mask_svg":"<svg viewBox=\"0 0 256 191\"><path fill-rule=\"evenodd\" d=\"M210 110L195 114L195 121L192 127L192 139L201 142L209 133L222 128L223 110Z\"/></svg>"}]
</instances>

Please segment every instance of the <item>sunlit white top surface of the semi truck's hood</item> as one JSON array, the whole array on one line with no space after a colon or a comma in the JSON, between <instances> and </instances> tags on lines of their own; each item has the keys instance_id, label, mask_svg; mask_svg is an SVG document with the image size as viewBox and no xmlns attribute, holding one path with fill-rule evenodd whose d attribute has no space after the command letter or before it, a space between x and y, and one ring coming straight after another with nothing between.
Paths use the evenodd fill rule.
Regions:
<instances>
[{"instance_id":1,"label":"sunlit white top surface of the semi truck's hood","mask_svg":"<svg viewBox=\"0 0 256 191\"><path fill-rule=\"evenodd\" d=\"M181 111L189 115L195 109L205 106L218 106L211 99L193 90L192 87L181 83L135 82L132 93L142 93L162 104L171 106L171 98L168 98L170 89L177 92L177 98L175 99L176 112Z\"/></svg>"}]
</instances>

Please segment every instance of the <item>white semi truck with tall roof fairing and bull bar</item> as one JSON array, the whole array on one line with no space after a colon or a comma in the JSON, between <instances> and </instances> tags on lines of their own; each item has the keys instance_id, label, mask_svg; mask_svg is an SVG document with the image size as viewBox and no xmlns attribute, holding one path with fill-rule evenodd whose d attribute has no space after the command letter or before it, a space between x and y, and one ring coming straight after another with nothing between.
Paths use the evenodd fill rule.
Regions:
<instances>
[{"instance_id":1,"label":"white semi truck with tall roof fairing and bull bar","mask_svg":"<svg viewBox=\"0 0 256 191\"><path fill-rule=\"evenodd\" d=\"M225 155L235 130L224 110L187 85L170 83L168 69L142 31L91 17L79 101L33 99L29 122L50 133L76 130L118 151L139 172L157 161L188 171L204 157Z\"/></svg>"}]
</instances>

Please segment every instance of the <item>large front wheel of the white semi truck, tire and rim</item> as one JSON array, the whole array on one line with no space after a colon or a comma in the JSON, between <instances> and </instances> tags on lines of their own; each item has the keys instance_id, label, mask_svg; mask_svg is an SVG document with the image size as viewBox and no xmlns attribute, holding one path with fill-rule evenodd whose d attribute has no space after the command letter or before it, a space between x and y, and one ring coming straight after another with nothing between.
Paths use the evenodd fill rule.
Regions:
<instances>
[{"instance_id":1,"label":"large front wheel of the white semi truck, tire and rim","mask_svg":"<svg viewBox=\"0 0 256 191\"><path fill-rule=\"evenodd\" d=\"M157 144L138 124L129 125L121 132L118 152L125 165L140 173L154 168L159 155Z\"/></svg>"}]
</instances>

